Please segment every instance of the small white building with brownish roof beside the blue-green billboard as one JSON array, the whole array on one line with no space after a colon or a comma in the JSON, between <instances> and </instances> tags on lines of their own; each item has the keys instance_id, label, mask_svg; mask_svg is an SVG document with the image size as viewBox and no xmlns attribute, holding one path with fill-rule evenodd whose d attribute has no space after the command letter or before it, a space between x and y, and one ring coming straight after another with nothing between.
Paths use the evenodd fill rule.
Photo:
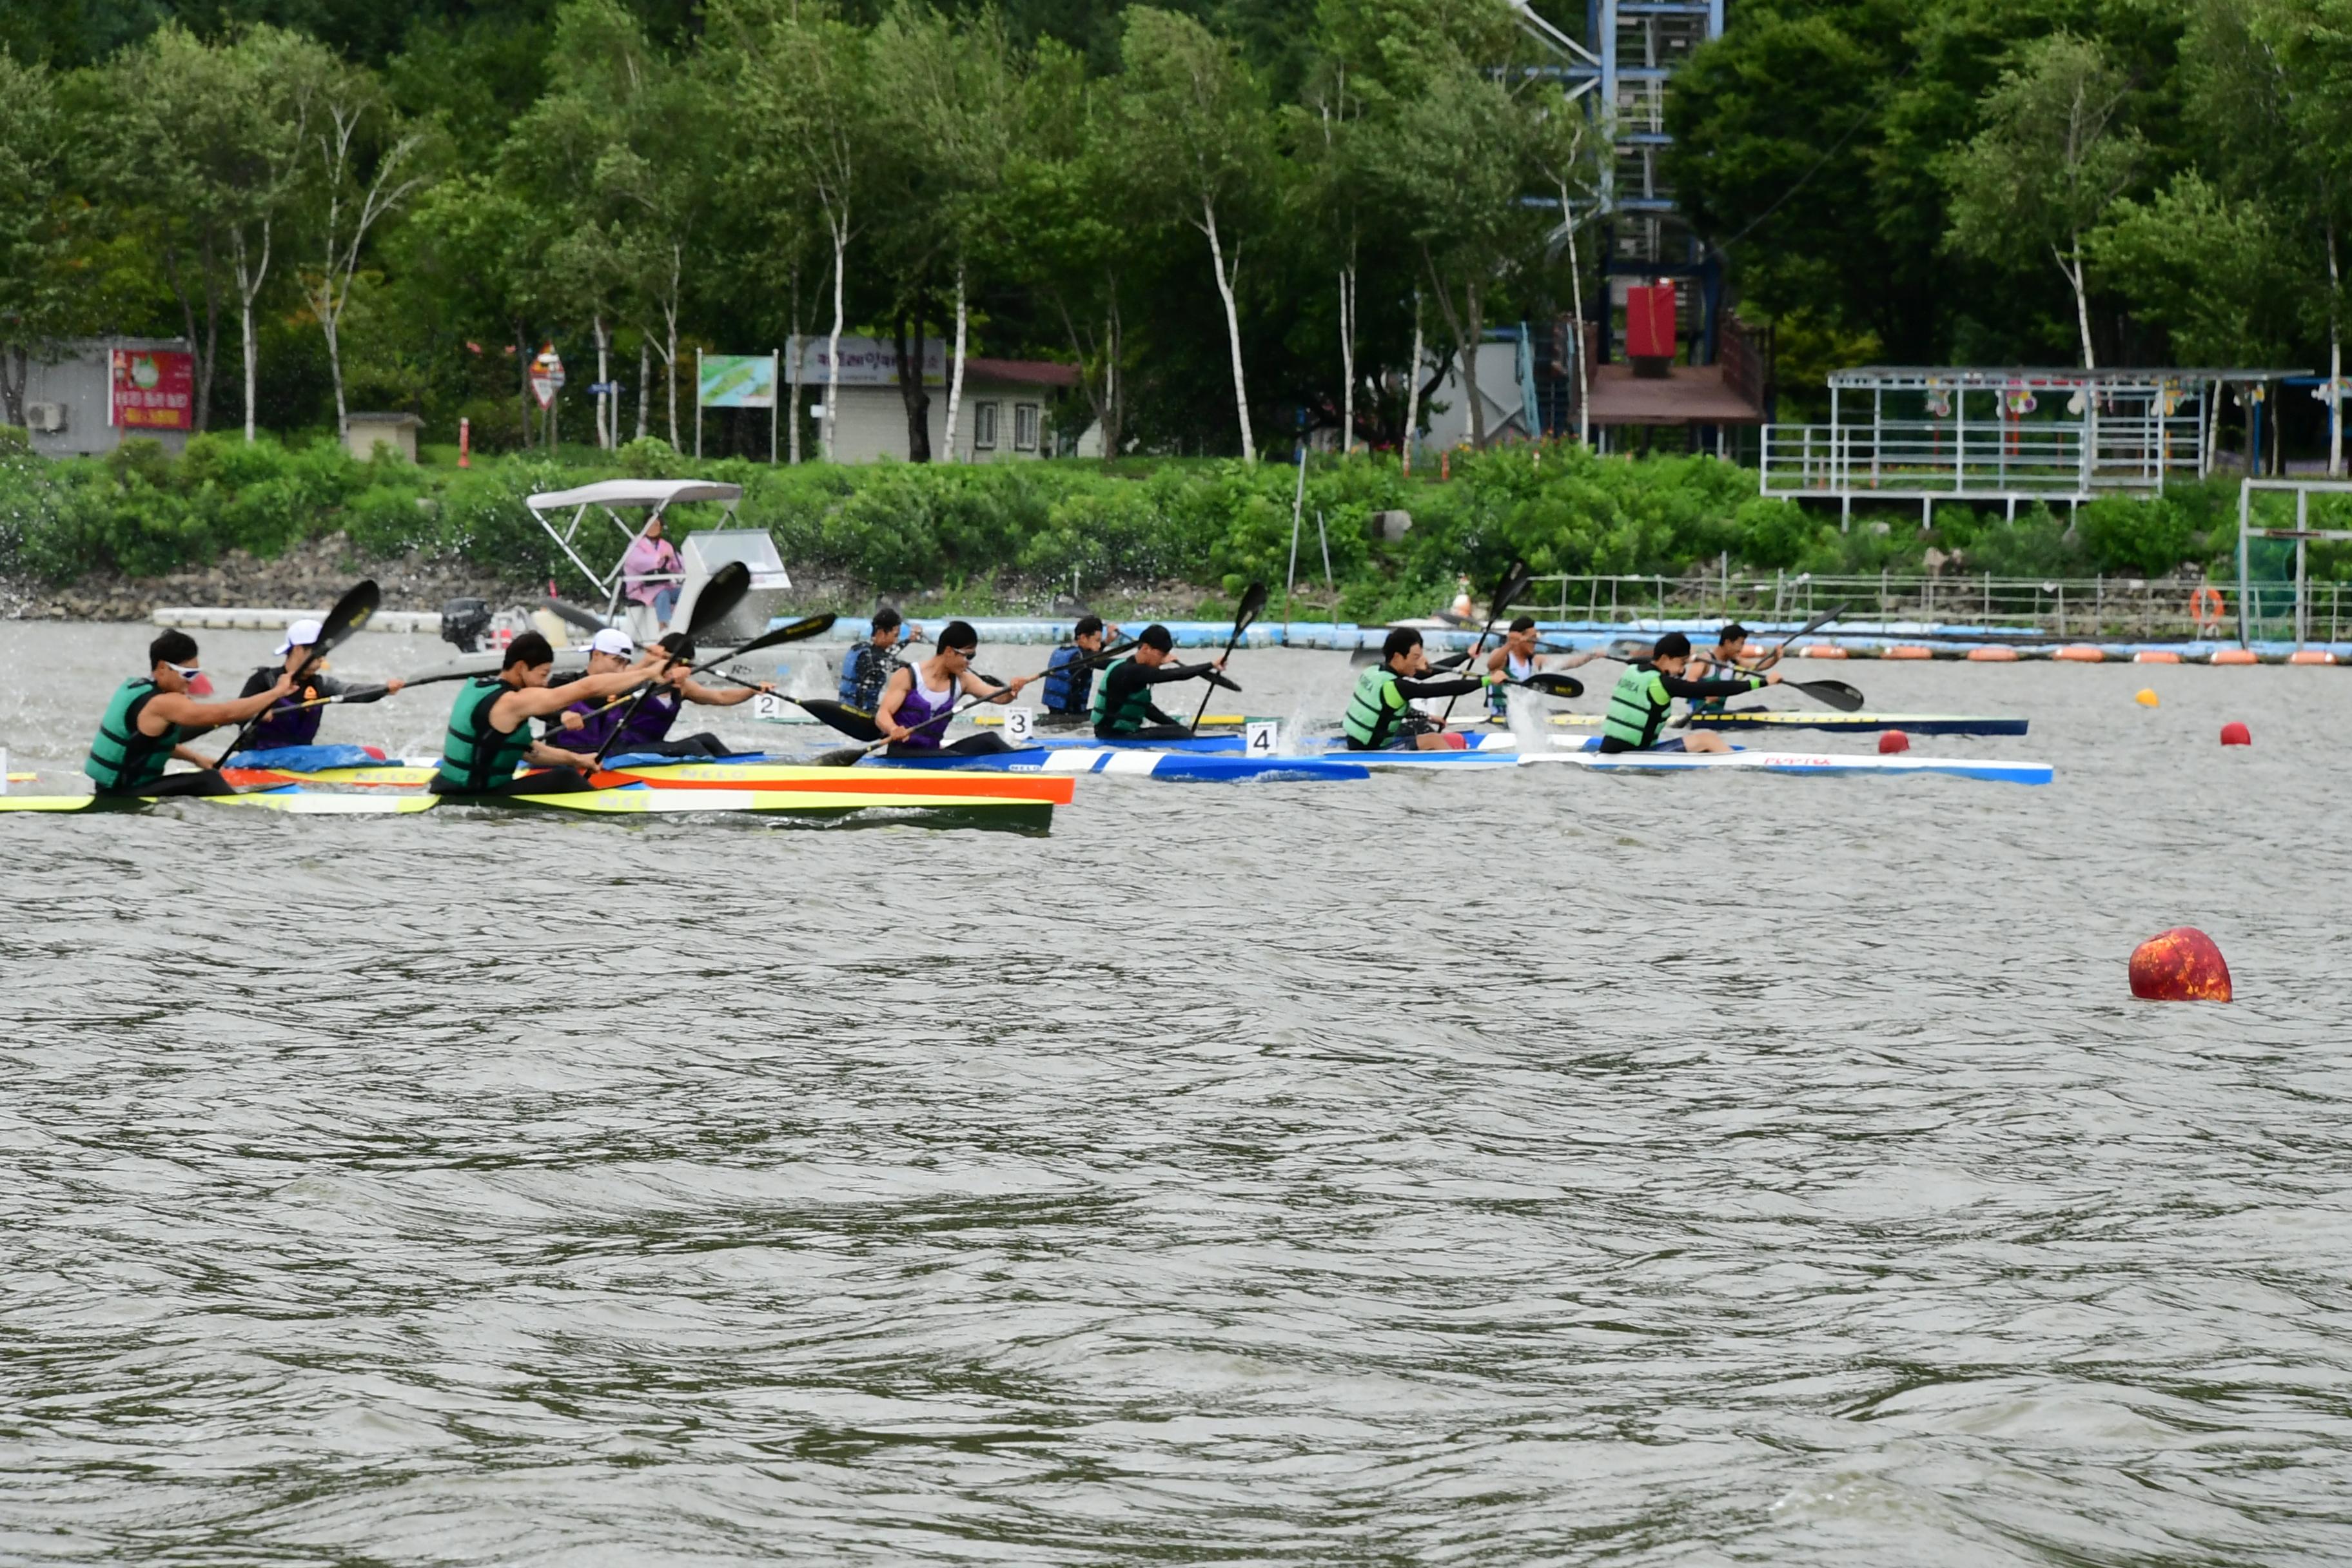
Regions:
<instances>
[{"instance_id":1,"label":"small white building with brownish roof beside the blue-green billboard","mask_svg":"<svg viewBox=\"0 0 2352 1568\"><path fill-rule=\"evenodd\" d=\"M800 404L823 428L826 339L802 339ZM948 353L924 343L922 386L931 395L931 456L957 463L1025 463L1051 454L1047 409L1056 393L1077 386L1075 364L1049 360L964 360L964 397L948 442ZM873 463L908 456L906 400L898 393L898 350L880 339L842 339L840 416L833 456Z\"/></svg>"}]
</instances>

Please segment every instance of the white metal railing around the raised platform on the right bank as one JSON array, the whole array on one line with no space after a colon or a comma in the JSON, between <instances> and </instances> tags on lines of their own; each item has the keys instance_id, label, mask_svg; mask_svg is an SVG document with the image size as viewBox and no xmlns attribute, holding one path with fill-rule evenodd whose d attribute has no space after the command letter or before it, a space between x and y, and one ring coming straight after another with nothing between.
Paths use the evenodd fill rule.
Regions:
<instances>
[{"instance_id":1,"label":"white metal railing around the raised platform on the right bank","mask_svg":"<svg viewBox=\"0 0 2352 1568\"><path fill-rule=\"evenodd\" d=\"M2183 416L2096 421L1879 421L1764 425L1766 496L2091 498L2197 477L2199 430Z\"/></svg>"}]
</instances>

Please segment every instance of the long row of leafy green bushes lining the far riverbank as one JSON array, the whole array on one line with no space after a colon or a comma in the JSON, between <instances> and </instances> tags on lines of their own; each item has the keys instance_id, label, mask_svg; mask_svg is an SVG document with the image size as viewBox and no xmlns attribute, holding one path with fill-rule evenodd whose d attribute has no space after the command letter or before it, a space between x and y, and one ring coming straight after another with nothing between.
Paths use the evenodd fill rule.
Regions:
<instances>
[{"instance_id":1,"label":"long row of leafy green bushes lining the far riverbank","mask_svg":"<svg viewBox=\"0 0 2352 1568\"><path fill-rule=\"evenodd\" d=\"M1282 463L1016 463L866 468L680 458L635 442L607 468L489 458L470 470L358 463L334 444L245 444L200 435L179 458L132 442L108 458L35 458L0 433L0 571L71 581L207 564L242 548L275 557L341 531L362 552L409 550L466 562L515 585L555 576L576 592L522 498L590 477L706 475L743 484L739 522L774 534L795 571L903 595L985 595L1068 585L1101 592L1183 581L1235 592L1289 569L1296 470ZM1388 541L1376 512L1414 527ZM701 512L701 517L684 517ZM1915 515L1858 520L1755 494L1750 470L1715 458L1604 458L1581 447L1461 456L1449 482L1406 480L1392 458L1308 468L1301 581L1322 578L1322 515L1341 609L1381 616L1428 607L1432 590L1475 583L1510 557L1536 571L1668 574L1729 559L1736 569L1910 571L1926 548L1999 576L2138 574L2216 562L2234 541L2234 484L2176 487L2157 501L2098 501L2077 520L2044 508L2013 524L1947 505L1936 531ZM682 508L710 522L713 508ZM612 543L612 541L607 541ZM2345 569L2326 562L2324 571Z\"/></svg>"}]
</instances>

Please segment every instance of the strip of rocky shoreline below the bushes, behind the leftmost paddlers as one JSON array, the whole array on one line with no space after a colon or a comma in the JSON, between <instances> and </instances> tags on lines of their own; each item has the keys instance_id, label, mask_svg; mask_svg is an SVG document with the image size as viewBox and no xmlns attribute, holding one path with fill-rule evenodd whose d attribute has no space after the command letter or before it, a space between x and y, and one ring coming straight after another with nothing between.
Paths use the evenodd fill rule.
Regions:
<instances>
[{"instance_id":1,"label":"strip of rocky shoreline below the bushes, behind the leftmost paddlers","mask_svg":"<svg viewBox=\"0 0 2352 1568\"><path fill-rule=\"evenodd\" d=\"M369 576L383 588L383 609L440 609L445 599L477 597L499 604L515 595L461 562L405 555L367 559L341 534L296 545L273 562L230 550L212 567L132 578L92 571L73 583L0 578L5 621L146 621L158 604L223 604L252 609L327 607Z\"/></svg>"}]
</instances>

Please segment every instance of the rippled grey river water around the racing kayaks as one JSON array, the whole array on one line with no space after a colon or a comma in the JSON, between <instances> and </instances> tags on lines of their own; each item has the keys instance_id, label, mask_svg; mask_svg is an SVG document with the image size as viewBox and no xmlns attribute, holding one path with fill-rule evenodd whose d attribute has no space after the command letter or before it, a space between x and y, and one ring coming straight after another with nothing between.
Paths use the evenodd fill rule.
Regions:
<instances>
[{"instance_id":1,"label":"rippled grey river water around the racing kayaks","mask_svg":"<svg viewBox=\"0 0 2352 1568\"><path fill-rule=\"evenodd\" d=\"M2352 675L1837 675L2058 780L0 816L0 1559L2345 1561Z\"/></svg>"}]
</instances>

